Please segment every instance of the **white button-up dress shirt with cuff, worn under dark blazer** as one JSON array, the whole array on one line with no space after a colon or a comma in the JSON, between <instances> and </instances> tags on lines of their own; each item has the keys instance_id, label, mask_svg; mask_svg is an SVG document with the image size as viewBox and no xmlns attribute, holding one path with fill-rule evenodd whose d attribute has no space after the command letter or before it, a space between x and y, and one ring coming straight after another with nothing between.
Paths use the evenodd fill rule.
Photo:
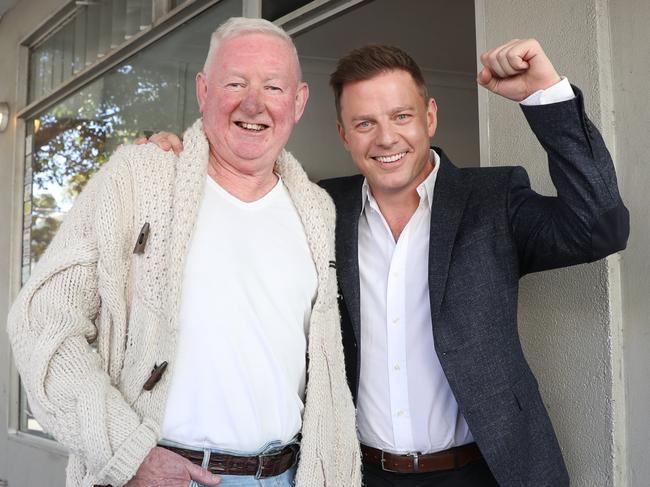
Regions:
<instances>
[{"instance_id":1,"label":"white button-up dress shirt with cuff, worn under dark blazer","mask_svg":"<svg viewBox=\"0 0 650 487\"><path fill-rule=\"evenodd\" d=\"M574 97L566 78L522 101ZM429 229L440 159L417 188L419 205L397 242L368 182L359 218L361 443L381 450L436 452L473 441L435 353L429 305ZM435 229L434 229L435 230Z\"/></svg>"}]
</instances>

